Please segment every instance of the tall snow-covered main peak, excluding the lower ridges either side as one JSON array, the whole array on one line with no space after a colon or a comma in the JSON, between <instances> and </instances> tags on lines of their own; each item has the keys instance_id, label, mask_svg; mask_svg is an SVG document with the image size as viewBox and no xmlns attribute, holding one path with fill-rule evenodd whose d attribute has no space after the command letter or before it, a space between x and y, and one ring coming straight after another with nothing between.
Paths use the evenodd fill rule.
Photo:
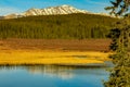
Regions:
<instances>
[{"instance_id":1,"label":"tall snow-covered main peak, excluding the lower ridges either side","mask_svg":"<svg viewBox=\"0 0 130 87\"><path fill-rule=\"evenodd\" d=\"M72 13L88 13L84 10L78 10L70 5L60 5L60 7L50 7L47 9L30 9L22 15L29 16L29 15L57 15L57 14L72 14Z\"/></svg>"}]
</instances>

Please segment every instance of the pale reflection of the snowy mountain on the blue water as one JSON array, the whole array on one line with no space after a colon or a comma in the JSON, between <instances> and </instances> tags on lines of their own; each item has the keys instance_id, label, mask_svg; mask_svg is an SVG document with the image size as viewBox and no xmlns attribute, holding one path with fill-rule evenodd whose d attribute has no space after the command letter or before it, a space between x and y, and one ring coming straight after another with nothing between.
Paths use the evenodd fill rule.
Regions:
<instances>
[{"instance_id":1,"label":"pale reflection of the snowy mountain on the blue water","mask_svg":"<svg viewBox=\"0 0 130 87\"><path fill-rule=\"evenodd\" d=\"M56 65L39 65L39 66L27 66L27 70L32 74L43 74L49 76L57 76L62 79L69 79L74 77L72 71L73 67L56 66ZM67 72L66 72L67 70Z\"/></svg>"}]
</instances>

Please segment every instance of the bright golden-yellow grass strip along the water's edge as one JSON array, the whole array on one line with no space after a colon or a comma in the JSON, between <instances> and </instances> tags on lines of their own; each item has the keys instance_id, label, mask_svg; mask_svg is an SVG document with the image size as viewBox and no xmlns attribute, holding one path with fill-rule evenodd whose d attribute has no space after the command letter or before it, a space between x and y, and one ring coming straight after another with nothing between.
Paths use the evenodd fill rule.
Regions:
<instances>
[{"instance_id":1,"label":"bright golden-yellow grass strip along the water's edge","mask_svg":"<svg viewBox=\"0 0 130 87\"><path fill-rule=\"evenodd\" d=\"M0 64L104 63L109 53L89 51L1 50Z\"/></svg>"}]
</instances>

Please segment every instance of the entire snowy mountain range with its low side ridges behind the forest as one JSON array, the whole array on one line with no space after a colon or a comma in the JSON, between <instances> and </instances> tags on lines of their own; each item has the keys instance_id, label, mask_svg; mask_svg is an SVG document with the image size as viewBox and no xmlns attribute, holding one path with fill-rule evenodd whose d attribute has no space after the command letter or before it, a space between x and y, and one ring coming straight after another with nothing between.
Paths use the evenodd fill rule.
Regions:
<instances>
[{"instance_id":1,"label":"entire snowy mountain range with its low side ridges behind the forest","mask_svg":"<svg viewBox=\"0 0 130 87\"><path fill-rule=\"evenodd\" d=\"M23 13L13 13L9 15L1 16L1 18L17 18L24 16L36 16L36 15L62 15L62 14L73 14L73 13L83 13L83 14L99 14L104 16L110 16L105 13L92 13L86 10L79 10L72 5L58 5L58 7L50 7L46 9L29 9Z\"/></svg>"}]
</instances>

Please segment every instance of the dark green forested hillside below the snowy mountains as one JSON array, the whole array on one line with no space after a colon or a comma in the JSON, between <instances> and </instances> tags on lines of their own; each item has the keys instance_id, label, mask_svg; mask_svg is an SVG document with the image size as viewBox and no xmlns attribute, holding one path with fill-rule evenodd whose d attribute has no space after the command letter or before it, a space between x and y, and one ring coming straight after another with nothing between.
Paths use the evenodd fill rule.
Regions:
<instances>
[{"instance_id":1,"label":"dark green forested hillside below the snowy mountains","mask_svg":"<svg viewBox=\"0 0 130 87\"><path fill-rule=\"evenodd\" d=\"M0 21L0 38L106 38L117 18L94 14L42 15Z\"/></svg>"}]
</instances>

